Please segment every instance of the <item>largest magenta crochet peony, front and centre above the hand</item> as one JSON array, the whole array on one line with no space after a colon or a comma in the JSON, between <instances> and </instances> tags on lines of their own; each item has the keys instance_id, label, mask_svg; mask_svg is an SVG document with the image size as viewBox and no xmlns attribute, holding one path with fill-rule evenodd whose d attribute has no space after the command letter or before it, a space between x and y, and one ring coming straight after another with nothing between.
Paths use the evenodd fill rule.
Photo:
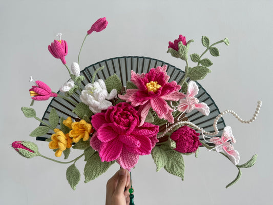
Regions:
<instances>
[{"instance_id":1,"label":"largest magenta crochet peony, front and centre above the hand","mask_svg":"<svg viewBox=\"0 0 273 205\"><path fill-rule=\"evenodd\" d=\"M117 160L127 170L135 167L139 155L150 154L158 141L159 126L144 122L139 127L137 110L127 103L93 115L91 123L96 132L90 145L101 161Z\"/></svg>"}]
</instances>

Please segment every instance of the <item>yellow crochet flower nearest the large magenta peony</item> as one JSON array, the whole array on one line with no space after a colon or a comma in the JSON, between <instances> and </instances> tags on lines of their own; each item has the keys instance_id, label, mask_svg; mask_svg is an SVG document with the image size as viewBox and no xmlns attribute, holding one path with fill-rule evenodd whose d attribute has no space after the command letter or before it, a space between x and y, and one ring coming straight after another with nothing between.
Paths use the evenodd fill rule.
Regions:
<instances>
[{"instance_id":1,"label":"yellow crochet flower nearest the large magenta peony","mask_svg":"<svg viewBox=\"0 0 273 205\"><path fill-rule=\"evenodd\" d=\"M76 143L81 138L83 141L89 139L89 135L94 132L92 125L87 123L84 119L79 122L73 122L71 124L72 130L69 132L69 136L73 138L73 141Z\"/></svg>"}]
</instances>

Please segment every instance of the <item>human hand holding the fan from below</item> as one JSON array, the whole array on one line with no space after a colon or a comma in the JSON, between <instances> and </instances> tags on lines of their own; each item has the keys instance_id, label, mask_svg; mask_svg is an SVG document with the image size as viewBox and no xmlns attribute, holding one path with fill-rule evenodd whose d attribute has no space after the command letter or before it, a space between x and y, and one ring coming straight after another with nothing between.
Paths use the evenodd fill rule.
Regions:
<instances>
[{"instance_id":1,"label":"human hand holding the fan from below","mask_svg":"<svg viewBox=\"0 0 273 205\"><path fill-rule=\"evenodd\" d=\"M129 205L129 189L130 173L120 168L107 182L106 205Z\"/></svg>"}]
</instances>

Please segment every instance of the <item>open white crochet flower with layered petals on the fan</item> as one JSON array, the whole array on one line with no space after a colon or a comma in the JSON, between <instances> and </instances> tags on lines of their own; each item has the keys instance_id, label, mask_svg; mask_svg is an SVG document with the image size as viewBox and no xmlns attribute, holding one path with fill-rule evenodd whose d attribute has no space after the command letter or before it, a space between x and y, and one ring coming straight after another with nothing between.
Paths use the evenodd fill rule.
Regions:
<instances>
[{"instance_id":1,"label":"open white crochet flower with layered petals on the fan","mask_svg":"<svg viewBox=\"0 0 273 205\"><path fill-rule=\"evenodd\" d=\"M117 95L117 90L113 89L109 94L102 79L98 79L93 84L87 84L85 90L79 96L82 103L89 106L93 113L99 113L108 109L112 103L107 99L113 99Z\"/></svg>"}]
</instances>

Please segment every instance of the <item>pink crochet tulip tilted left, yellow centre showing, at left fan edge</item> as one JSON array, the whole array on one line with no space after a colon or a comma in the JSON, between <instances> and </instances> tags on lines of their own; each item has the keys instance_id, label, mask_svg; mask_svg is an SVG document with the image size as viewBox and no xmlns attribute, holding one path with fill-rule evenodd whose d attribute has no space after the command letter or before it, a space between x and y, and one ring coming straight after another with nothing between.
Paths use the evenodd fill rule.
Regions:
<instances>
[{"instance_id":1,"label":"pink crochet tulip tilted left, yellow centre showing, at left fan edge","mask_svg":"<svg viewBox=\"0 0 273 205\"><path fill-rule=\"evenodd\" d=\"M42 81L36 80L38 86L32 86L29 90L30 96L34 100L48 100L50 97L57 97L56 93L51 92L50 87Z\"/></svg>"}]
</instances>

